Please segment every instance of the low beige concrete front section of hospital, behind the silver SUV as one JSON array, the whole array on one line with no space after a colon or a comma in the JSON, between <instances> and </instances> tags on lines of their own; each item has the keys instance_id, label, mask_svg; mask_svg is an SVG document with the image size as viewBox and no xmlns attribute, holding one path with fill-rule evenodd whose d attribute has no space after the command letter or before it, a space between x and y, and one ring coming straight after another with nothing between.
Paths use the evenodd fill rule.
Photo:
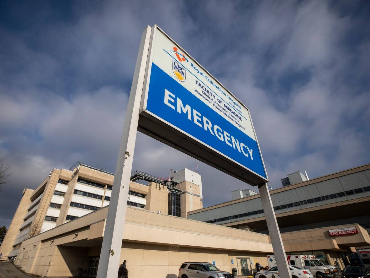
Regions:
<instances>
[{"instance_id":1,"label":"low beige concrete front section of hospital, behind the silver SUV","mask_svg":"<svg viewBox=\"0 0 370 278\"><path fill-rule=\"evenodd\" d=\"M78 267L87 268L89 256L100 254L107 211L102 208L27 239L16 264L40 276L76 275ZM266 235L127 208L120 251L130 277L175 278L179 266L190 260L215 260L226 271L237 257L266 264L272 246Z\"/></svg>"}]
</instances>

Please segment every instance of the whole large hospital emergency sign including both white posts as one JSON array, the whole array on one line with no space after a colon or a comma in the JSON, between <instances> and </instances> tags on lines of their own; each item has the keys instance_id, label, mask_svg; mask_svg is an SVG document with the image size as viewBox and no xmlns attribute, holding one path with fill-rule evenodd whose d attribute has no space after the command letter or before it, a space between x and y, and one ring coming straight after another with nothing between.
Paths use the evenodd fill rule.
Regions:
<instances>
[{"instance_id":1,"label":"whole large hospital emergency sign including both white posts","mask_svg":"<svg viewBox=\"0 0 370 278\"><path fill-rule=\"evenodd\" d=\"M280 277L291 277L249 109L154 25L141 39L98 278L117 277L137 130L259 186Z\"/></svg>"}]
</instances>

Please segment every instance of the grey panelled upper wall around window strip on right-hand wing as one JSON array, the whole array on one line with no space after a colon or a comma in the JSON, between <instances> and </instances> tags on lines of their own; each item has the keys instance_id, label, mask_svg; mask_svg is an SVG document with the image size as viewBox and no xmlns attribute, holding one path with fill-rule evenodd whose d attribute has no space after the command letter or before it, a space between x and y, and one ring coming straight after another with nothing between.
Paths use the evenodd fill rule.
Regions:
<instances>
[{"instance_id":1,"label":"grey panelled upper wall around window strip on right-hand wing","mask_svg":"<svg viewBox=\"0 0 370 278\"><path fill-rule=\"evenodd\" d=\"M352 189L363 188L370 186L370 164L360 166L357 168L349 169L339 173L333 173L324 177L304 181L296 185L285 186L270 191L273 206L286 205L288 203L305 201L311 198L330 195L349 191ZM343 196L334 199L325 199L324 201L300 204L289 208L282 208L277 210L276 214L286 212L298 211L301 209L312 208L315 206L327 205L357 198L370 196L370 191L356 193L353 195ZM240 208L243 208L240 210ZM218 205L210 206L209 208L198 209L188 212L188 218L198 221L209 221L218 218L243 214L262 209L262 203L258 195L249 196L239 200L221 203ZM224 221L216 222L219 225L240 222L243 220L251 220L255 218L264 217L263 212L254 215L242 216L235 219L227 219ZM245 223L240 223L245 225Z\"/></svg>"}]
</instances>

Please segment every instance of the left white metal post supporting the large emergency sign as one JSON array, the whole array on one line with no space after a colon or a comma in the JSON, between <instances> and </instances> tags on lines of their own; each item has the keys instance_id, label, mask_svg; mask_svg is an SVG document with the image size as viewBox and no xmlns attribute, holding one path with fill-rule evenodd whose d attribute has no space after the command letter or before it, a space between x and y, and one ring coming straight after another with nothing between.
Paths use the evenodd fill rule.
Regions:
<instances>
[{"instance_id":1,"label":"left white metal post supporting the large emergency sign","mask_svg":"<svg viewBox=\"0 0 370 278\"><path fill-rule=\"evenodd\" d=\"M128 190L132 170L132 159L134 158L136 133L139 120L141 91L142 84L144 82L150 34L151 27L148 26L141 37L134 78L132 80L131 92L122 132L121 146L114 174L111 201L105 223L97 278L115 278L118 275L122 236L126 218Z\"/></svg>"}]
</instances>

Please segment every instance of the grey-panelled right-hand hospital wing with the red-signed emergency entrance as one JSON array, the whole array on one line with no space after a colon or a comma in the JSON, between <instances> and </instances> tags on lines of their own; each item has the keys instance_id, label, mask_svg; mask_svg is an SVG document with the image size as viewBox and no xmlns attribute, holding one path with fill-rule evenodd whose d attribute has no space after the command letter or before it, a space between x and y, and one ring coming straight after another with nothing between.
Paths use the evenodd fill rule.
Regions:
<instances>
[{"instance_id":1,"label":"grey-panelled right-hand hospital wing with the red-signed emergency entrance","mask_svg":"<svg viewBox=\"0 0 370 278\"><path fill-rule=\"evenodd\" d=\"M370 164L311 180L300 172L290 175L297 178L291 185L270 191L287 254L369 268ZM259 194L188 212L188 218L268 234ZM329 230L351 227L363 238L360 232L330 236Z\"/></svg>"}]
</instances>

